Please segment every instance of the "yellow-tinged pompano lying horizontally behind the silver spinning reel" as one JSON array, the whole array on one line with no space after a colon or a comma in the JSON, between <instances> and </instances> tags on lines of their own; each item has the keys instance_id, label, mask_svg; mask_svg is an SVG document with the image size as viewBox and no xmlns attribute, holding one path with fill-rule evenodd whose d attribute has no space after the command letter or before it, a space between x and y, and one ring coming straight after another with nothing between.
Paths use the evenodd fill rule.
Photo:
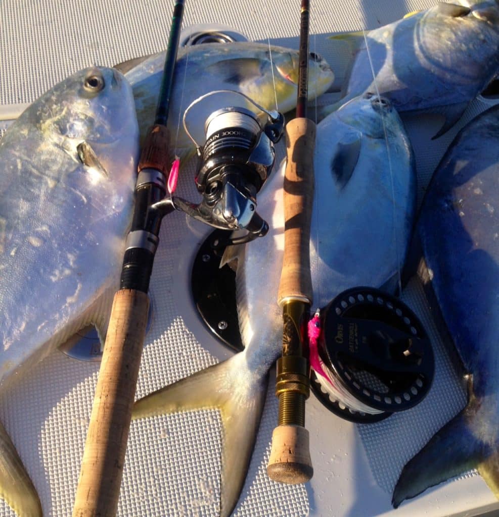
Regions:
<instances>
[{"instance_id":1,"label":"yellow-tinged pompano lying horizontally behind the silver spinning reel","mask_svg":"<svg viewBox=\"0 0 499 517\"><path fill-rule=\"evenodd\" d=\"M133 86L142 138L154 122L164 65L165 52L116 65ZM333 78L326 61L311 53L309 98L324 93ZM203 43L180 49L168 118L175 152L186 156L195 150L183 129L181 115L201 95L220 89L236 90L267 110L275 110L277 102L278 110L286 113L296 106L297 81L298 51L295 50L253 42ZM240 95L223 93L204 99L186 118L187 128L197 142L204 141L203 128L209 115L228 105L256 110Z\"/></svg>"}]
</instances>

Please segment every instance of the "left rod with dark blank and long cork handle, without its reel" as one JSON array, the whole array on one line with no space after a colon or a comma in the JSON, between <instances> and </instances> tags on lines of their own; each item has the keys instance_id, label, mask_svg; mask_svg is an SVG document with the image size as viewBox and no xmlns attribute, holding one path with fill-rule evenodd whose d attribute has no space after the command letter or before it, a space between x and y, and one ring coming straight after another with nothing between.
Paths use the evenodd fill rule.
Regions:
<instances>
[{"instance_id":1,"label":"left rod with dark blank and long cork handle, without its reel","mask_svg":"<svg viewBox=\"0 0 499 517\"><path fill-rule=\"evenodd\" d=\"M166 195L172 164L166 124L183 13L184 0L177 0L156 117L139 160L134 216L102 354L73 517L113 517L118 509L149 311L149 282L161 221L167 213L154 204Z\"/></svg>"}]
</instances>

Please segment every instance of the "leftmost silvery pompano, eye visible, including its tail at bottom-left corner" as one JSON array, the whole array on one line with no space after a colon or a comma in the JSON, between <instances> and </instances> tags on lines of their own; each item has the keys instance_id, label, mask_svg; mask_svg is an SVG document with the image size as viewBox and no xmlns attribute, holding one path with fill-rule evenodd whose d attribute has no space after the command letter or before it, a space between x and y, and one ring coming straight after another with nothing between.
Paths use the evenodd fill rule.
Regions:
<instances>
[{"instance_id":1,"label":"leftmost silvery pompano, eye visible, including its tail at bottom-left corner","mask_svg":"<svg viewBox=\"0 0 499 517\"><path fill-rule=\"evenodd\" d=\"M0 140L2 388L86 325L104 339L138 145L130 85L109 68L55 85ZM42 514L1 424L0 493L18 515Z\"/></svg>"}]
</instances>

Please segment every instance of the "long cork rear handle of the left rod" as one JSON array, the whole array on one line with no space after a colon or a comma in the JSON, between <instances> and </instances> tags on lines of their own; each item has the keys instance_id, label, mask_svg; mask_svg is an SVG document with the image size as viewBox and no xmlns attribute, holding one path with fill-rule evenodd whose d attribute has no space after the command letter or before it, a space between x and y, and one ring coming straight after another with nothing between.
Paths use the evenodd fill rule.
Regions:
<instances>
[{"instance_id":1,"label":"long cork rear handle of the left rod","mask_svg":"<svg viewBox=\"0 0 499 517\"><path fill-rule=\"evenodd\" d=\"M114 517L149 310L148 295L114 296L73 517Z\"/></svg>"}]
</instances>

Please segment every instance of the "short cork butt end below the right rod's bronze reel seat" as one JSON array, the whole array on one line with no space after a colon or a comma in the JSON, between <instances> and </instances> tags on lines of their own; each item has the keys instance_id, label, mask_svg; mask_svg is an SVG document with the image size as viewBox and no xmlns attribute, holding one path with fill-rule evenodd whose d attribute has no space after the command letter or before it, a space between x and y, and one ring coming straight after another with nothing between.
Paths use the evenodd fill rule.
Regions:
<instances>
[{"instance_id":1,"label":"short cork butt end below the right rod's bronze reel seat","mask_svg":"<svg viewBox=\"0 0 499 517\"><path fill-rule=\"evenodd\" d=\"M267 474L280 483L306 483L314 469L310 458L309 431L301 425L278 425L272 433Z\"/></svg>"}]
</instances>

